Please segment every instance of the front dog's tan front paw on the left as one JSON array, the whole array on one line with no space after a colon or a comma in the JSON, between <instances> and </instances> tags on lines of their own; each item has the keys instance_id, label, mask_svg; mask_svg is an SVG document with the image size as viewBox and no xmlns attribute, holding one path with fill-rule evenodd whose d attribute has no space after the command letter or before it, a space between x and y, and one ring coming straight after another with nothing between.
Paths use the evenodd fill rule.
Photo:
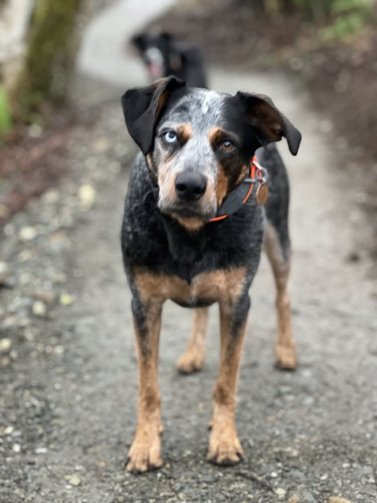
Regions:
<instances>
[{"instance_id":1,"label":"front dog's tan front paw on the left","mask_svg":"<svg viewBox=\"0 0 377 503\"><path fill-rule=\"evenodd\" d=\"M162 431L162 426L160 428ZM126 470L143 473L162 465L161 440L158 433L137 433L128 453Z\"/></svg>"}]
</instances>

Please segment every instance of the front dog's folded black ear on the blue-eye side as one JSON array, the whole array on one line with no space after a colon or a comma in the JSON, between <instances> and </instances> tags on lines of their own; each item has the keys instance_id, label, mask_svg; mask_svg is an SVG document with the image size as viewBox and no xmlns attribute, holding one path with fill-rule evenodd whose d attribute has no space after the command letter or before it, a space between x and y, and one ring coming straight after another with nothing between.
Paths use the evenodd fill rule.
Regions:
<instances>
[{"instance_id":1,"label":"front dog's folded black ear on the blue-eye side","mask_svg":"<svg viewBox=\"0 0 377 503\"><path fill-rule=\"evenodd\" d=\"M144 155L152 148L154 127L167 98L174 89L183 86L183 80L170 76L145 88L129 89L122 96L128 132Z\"/></svg>"}]
</instances>

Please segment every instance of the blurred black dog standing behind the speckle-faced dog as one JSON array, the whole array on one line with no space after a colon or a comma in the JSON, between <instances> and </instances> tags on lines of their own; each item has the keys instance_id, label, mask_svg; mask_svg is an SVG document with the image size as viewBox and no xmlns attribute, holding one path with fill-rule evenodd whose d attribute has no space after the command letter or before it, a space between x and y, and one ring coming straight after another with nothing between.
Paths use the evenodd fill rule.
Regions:
<instances>
[{"instance_id":1,"label":"blurred black dog standing behind the speckle-faced dog","mask_svg":"<svg viewBox=\"0 0 377 503\"><path fill-rule=\"evenodd\" d=\"M131 39L152 80L174 75L188 86L207 88L207 76L198 47L179 41L167 32L142 32Z\"/></svg>"}]
</instances>

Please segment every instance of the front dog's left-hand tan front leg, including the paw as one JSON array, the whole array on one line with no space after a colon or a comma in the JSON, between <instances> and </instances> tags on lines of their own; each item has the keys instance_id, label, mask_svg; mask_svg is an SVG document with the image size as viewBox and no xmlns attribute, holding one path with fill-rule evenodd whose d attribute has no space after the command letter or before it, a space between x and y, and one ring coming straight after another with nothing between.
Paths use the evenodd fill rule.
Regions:
<instances>
[{"instance_id":1,"label":"front dog's left-hand tan front leg, including the paw","mask_svg":"<svg viewBox=\"0 0 377 503\"><path fill-rule=\"evenodd\" d=\"M134 295L132 312L139 363L138 426L126 469L145 472L162 465L160 418L161 399L157 384L158 342L162 301L140 300Z\"/></svg>"}]
</instances>

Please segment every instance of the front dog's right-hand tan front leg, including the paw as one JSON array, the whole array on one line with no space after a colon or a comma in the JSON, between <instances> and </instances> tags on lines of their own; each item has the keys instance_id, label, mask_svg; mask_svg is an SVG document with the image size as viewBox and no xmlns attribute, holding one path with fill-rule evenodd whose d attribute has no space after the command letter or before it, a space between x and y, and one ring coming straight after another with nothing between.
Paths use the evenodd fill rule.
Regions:
<instances>
[{"instance_id":1,"label":"front dog's right-hand tan front leg, including the paw","mask_svg":"<svg viewBox=\"0 0 377 503\"><path fill-rule=\"evenodd\" d=\"M220 372L213 392L213 415L207 459L216 464L236 464L243 457L235 425L236 383L250 299L220 302Z\"/></svg>"}]
</instances>

